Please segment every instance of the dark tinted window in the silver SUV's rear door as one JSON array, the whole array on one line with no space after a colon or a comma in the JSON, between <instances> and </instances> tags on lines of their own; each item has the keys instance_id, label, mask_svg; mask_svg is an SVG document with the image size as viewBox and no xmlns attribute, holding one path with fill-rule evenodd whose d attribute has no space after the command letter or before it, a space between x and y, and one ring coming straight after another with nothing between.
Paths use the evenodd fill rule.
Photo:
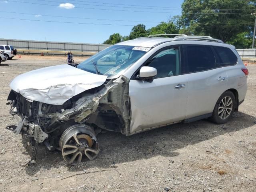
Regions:
<instances>
[{"instance_id":1,"label":"dark tinted window in the silver SUV's rear door","mask_svg":"<svg viewBox=\"0 0 256 192\"><path fill-rule=\"evenodd\" d=\"M216 68L216 59L211 46L186 45L186 73Z\"/></svg>"}]
</instances>

